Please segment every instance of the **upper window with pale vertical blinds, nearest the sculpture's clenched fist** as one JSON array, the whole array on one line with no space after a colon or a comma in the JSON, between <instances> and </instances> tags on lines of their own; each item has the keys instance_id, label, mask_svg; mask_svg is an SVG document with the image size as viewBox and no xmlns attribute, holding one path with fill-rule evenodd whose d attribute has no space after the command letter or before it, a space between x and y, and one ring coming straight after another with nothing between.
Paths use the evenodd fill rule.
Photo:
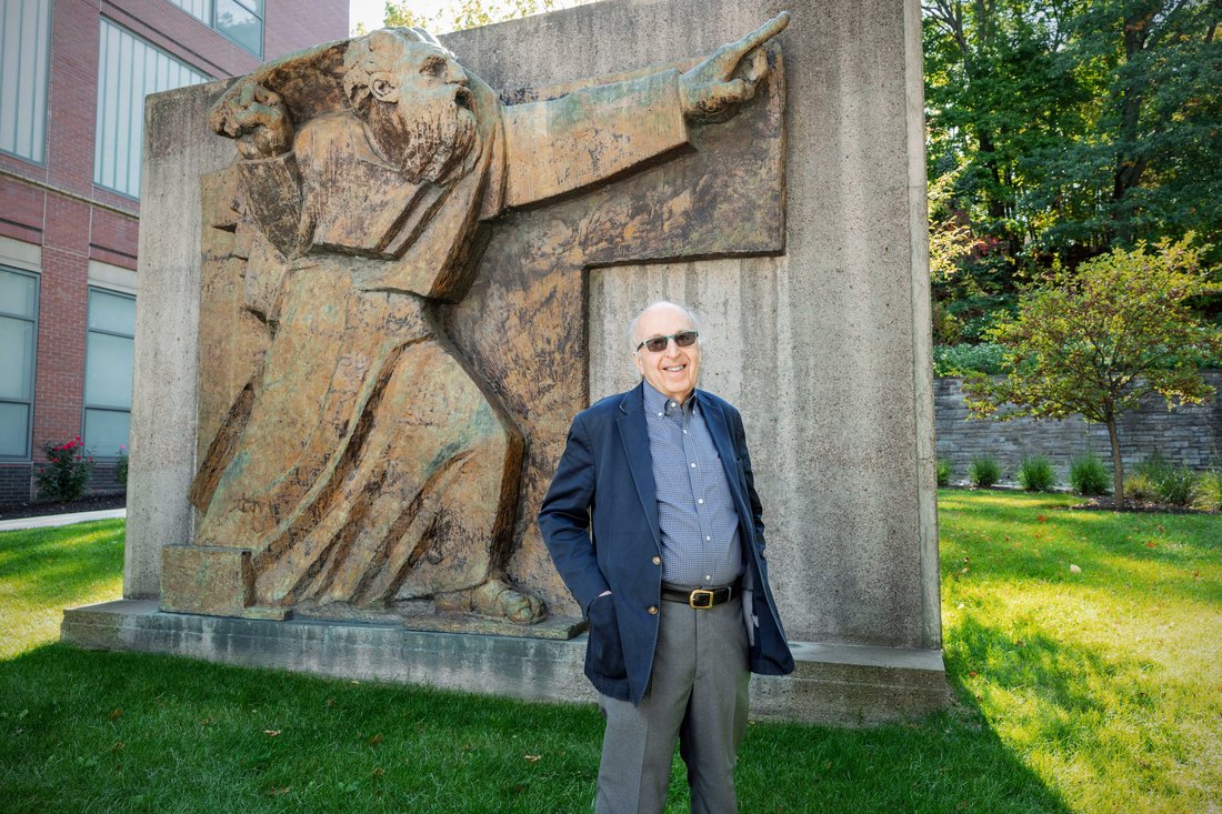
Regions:
<instances>
[{"instance_id":1,"label":"upper window with pale vertical blinds, nearest the sculpture's clenched fist","mask_svg":"<svg viewBox=\"0 0 1222 814\"><path fill-rule=\"evenodd\" d=\"M138 198L144 97L210 77L109 20L101 21L100 37L93 182Z\"/></svg>"}]
</instances>

